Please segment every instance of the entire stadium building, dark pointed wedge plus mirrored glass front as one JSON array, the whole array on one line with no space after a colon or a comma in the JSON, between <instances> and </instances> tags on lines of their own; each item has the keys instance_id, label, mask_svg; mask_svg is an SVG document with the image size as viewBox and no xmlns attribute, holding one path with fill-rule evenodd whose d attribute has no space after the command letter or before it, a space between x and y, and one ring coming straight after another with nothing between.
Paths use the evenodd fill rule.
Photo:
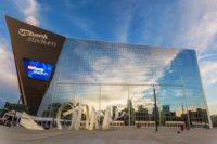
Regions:
<instances>
[{"instance_id":1,"label":"entire stadium building, dark pointed wedge plus mirrored glass front","mask_svg":"<svg viewBox=\"0 0 217 144\"><path fill-rule=\"evenodd\" d=\"M7 24L31 115L54 117L76 101L102 112L114 106L126 125L155 116L162 126L210 123L194 50L67 38L8 16Z\"/></svg>"}]
</instances>

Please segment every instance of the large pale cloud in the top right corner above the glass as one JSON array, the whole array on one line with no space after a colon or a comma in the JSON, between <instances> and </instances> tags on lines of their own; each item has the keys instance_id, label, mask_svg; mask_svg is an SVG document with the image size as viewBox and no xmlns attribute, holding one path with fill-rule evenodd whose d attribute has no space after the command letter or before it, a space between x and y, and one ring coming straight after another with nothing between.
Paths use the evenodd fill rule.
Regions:
<instances>
[{"instance_id":1,"label":"large pale cloud in the top right corner above the glass","mask_svg":"<svg viewBox=\"0 0 217 144\"><path fill-rule=\"evenodd\" d=\"M180 2L181 21L175 44L195 48L199 55L213 49L217 34L217 1L186 0ZM216 45L213 45L217 48Z\"/></svg>"}]
</instances>

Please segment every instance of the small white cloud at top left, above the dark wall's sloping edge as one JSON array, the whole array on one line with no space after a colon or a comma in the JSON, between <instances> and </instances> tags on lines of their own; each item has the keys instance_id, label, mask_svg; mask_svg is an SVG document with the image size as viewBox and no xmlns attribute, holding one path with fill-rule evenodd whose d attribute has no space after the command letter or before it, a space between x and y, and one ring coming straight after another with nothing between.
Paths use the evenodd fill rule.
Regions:
<instances>
[{"instance_id":1,"label":"small white cloud at top left, above the dark wall's sloping edge","mask_svg":"<svg viewBox=\"0 0 217 144\"><path fill-rule=\"evenodd\" d=\"M40 4L36 0L16 0L18 11L25 16L25 21L31 25L39 26Z\"/></svg>"}]
</instances>

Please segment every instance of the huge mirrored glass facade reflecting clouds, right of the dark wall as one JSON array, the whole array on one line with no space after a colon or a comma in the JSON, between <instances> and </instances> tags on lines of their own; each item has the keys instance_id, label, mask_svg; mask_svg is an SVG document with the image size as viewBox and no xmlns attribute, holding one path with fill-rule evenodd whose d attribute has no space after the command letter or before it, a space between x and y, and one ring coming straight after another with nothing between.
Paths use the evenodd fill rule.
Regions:
<instances>
[{"instance_id":1,"label":"huge mirrored glass facade reflecting clouds, right of the dark wall","mask_svg":"<svg viewBox=\"0 0 217 144\"><path fill-rule=\"evenodd\" d=\"M118 108L127 126L156 116L161 126L208 122L194 50L66 39L38 116L72 101Z\"/></svg>"}]
</instances>

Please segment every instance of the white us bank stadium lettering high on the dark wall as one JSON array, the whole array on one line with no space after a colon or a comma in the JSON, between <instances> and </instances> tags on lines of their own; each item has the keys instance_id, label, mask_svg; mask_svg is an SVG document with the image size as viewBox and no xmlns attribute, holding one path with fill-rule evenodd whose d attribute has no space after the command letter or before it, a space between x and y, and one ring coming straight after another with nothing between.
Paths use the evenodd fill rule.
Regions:
<instances>
[{"instance_id":1,"label":"white us bank stadium lettering high on the dark wall","mask_svg":"<svg viewBox=\"0 0 217 144\"><path fill-rule=\"evenodd\" d=\"M22 37L27 37L27 41L33 43L44 44L48 47L56 47L56 42L50 41L47 34L38 34L24 28L18 29L18 35Z\"/></svg>"}]
</instances>

